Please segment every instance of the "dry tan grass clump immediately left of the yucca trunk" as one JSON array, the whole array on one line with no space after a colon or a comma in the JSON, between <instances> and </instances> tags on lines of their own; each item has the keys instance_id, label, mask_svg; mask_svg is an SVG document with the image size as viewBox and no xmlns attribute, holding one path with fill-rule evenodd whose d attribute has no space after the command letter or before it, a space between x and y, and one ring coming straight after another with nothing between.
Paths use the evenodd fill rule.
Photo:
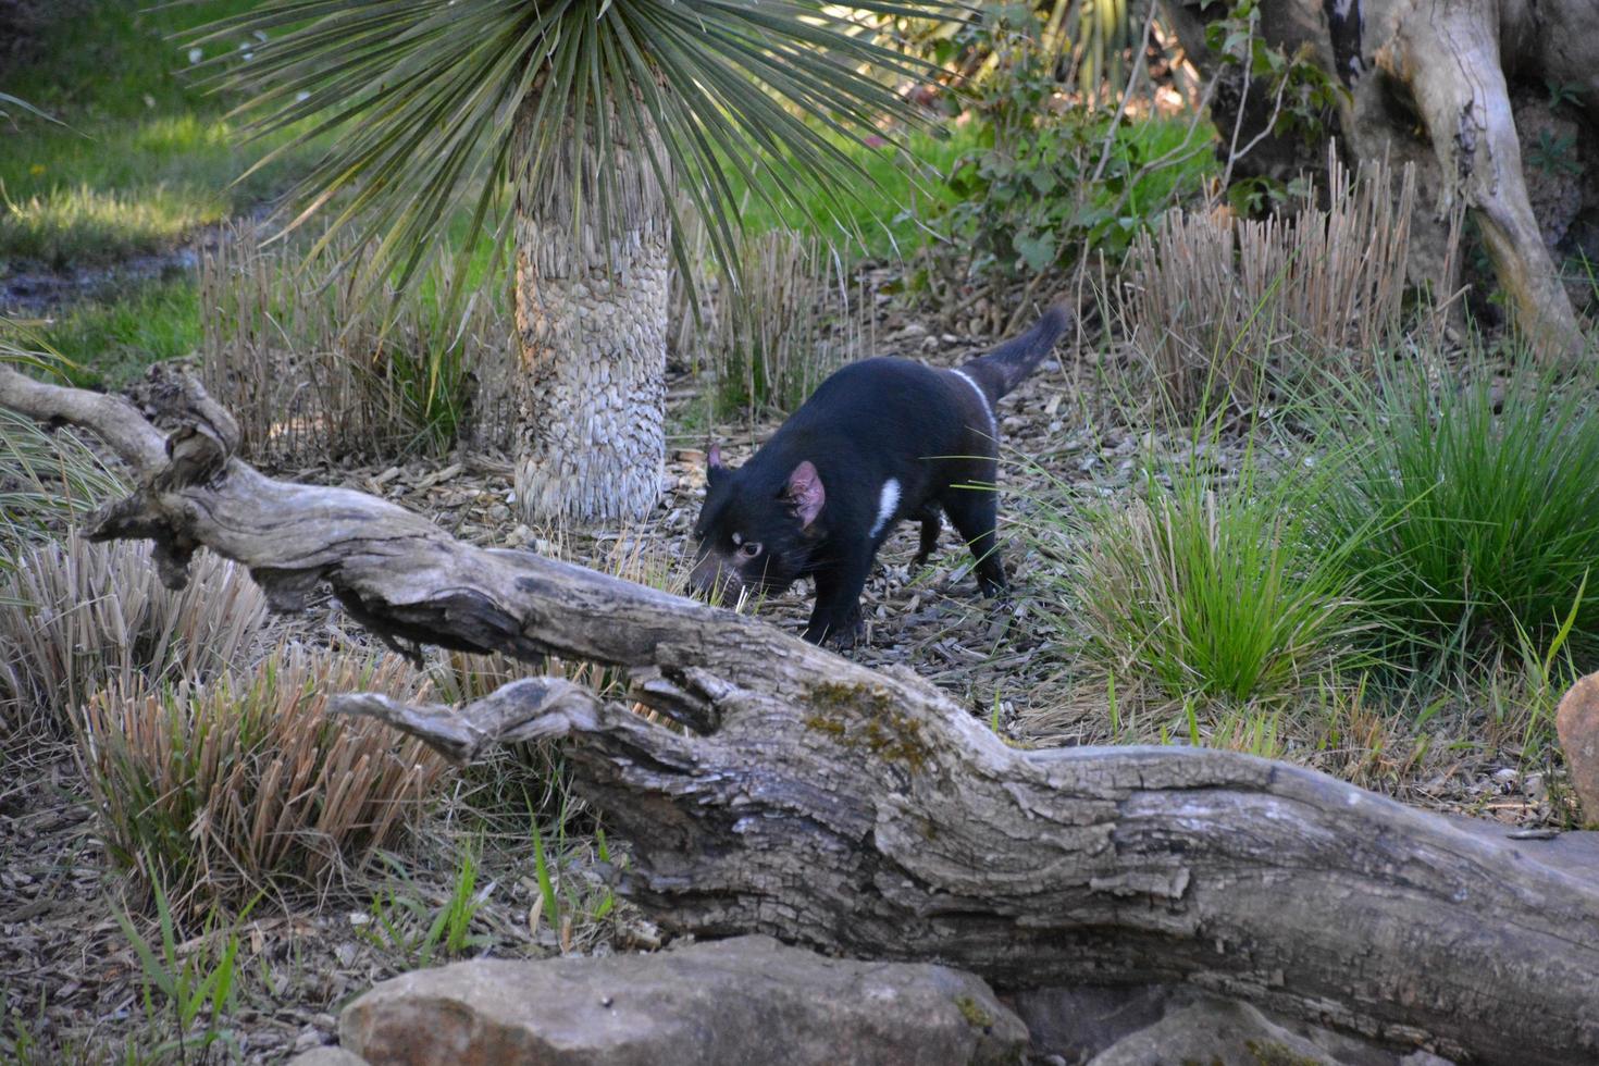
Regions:
<instances>
[{"instance_id":1,"label":"dry tan grass clump immediately left of the yucca trunk","mask_svg":"<svg viewBox=\"0 0 1599 1066\"><path fill-rule=\"evenodd\" d=\"M331 259L349 251L336 245ZM307 272L296 249L264 248L248 222L201 257L201 376L238 419L251 460L443 452L469 424L492 438L504 422L504 393L488 382L504 377L510 348L499 305L473 297L465 321L449 321L443 275L405 300L361 304L358 273Z\"/></svg>"}]
</instances>

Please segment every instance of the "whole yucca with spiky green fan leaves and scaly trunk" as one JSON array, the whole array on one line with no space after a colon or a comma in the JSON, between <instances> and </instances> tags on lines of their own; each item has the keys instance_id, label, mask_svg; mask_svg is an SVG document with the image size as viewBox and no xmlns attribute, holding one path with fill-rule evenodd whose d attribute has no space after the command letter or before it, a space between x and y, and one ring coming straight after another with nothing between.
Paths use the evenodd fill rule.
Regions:
<instances>
[{"instance_id":1,"label":"whole yucca with spiky green fan leaves and scaly trunk","mask_svg":"<svg viewBox=\"0 0 1599 1066\"><path fill-rule=\"evenodd\" d=\"M264 38L224 77L270 110L257 131L339 131L296 189L301 219L349 193L329 233L376 241L371 278L409 283L469 206L470 233L510 243L516 497L531 518L600 521L643 518L659 492L668 259L686 259L673 190L732 264L736 187L784 200L868 181L838 137L913 117L886 80L927 67L865 21L953 8L265 0L201 40Z\"/></svg>"}]
</instances>

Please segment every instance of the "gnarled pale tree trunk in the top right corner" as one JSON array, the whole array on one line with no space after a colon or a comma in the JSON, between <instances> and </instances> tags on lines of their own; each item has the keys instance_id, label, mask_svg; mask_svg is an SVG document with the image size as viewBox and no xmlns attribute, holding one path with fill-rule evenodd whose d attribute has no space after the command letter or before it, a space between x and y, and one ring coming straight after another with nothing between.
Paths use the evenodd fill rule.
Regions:
<instances>
[{"instance_id":1,"label":"gnarled pale tree trunk in the top right corner","mask_svg":"<svg viewBox=\"0 0 1599 1066\"><path fill-rule=\"evenodd\" d=\"M1162 0L1201 70L1218 56L1204 26L1226 5ZM1348 89L1337 125L1348 161L1414 163L1431 211L1412 224L1412 267L1439 294L1457 286L1449 248L1455 206L1476 219L1500 284L1533 347L1562 360L1588 350L1551 248L1599 224L1599 3L1594 0L1271 0L1262 37L1308 56ZM1223 72L1217 125L1238 147L1254 144L1234 176L1321 166L1326 149L1262 136L1274 112L1273 85L1242 91L1241 69ZM1551 94L1549 85L1559 86ZM1586 129L1583 129L1586 125ZM1527 160L1535 158L1529 166ZM1599 251L1572 248L1572 251Z\"/></svg>"}]
</instances>

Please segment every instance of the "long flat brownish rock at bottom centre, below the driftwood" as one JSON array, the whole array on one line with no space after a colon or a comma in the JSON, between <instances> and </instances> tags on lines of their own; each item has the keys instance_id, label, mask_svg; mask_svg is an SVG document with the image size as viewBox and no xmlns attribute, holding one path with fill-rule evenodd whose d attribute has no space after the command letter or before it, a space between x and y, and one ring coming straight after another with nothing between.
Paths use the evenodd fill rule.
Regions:
<instances>
[{"instance_id":1,"label":"long flat brownish rock at bottom centre, below the driftwood","mask_svg":"<svg viewBox=\"0 0 1599 1066\"><path fill-rule=\"evenodd\" d=\"M350 1004L341 1042L385 1063L1014 1063L1027 1028L977 977L740 937L652 956L484 959Z\"/></svg>"}]
</instances>

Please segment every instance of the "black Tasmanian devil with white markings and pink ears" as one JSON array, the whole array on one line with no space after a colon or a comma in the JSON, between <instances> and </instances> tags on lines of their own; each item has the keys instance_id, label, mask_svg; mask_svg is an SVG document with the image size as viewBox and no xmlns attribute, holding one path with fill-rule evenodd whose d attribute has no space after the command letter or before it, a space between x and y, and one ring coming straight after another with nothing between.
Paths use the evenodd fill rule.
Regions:
<instances>
[{"instance_id":1,"label":"black Tasmanian devil with white markings and pink ears","mask_svg":"<svg viewBox=\"0 0 1599 1066\"><path fill-rule=\"evenodd\" d=\"M1043 361L1067 323L1052 307L1028 332L953 371L895 358L852 363L737 470L712 447L694 588L779 593L814 577L804 636L849 647L860 639L860 591L878 548L895 523L918 518L916 564L924 564L942 508L977 559L983 595L1004 591L995 403Z\"/></svg>"}]
</instances>

